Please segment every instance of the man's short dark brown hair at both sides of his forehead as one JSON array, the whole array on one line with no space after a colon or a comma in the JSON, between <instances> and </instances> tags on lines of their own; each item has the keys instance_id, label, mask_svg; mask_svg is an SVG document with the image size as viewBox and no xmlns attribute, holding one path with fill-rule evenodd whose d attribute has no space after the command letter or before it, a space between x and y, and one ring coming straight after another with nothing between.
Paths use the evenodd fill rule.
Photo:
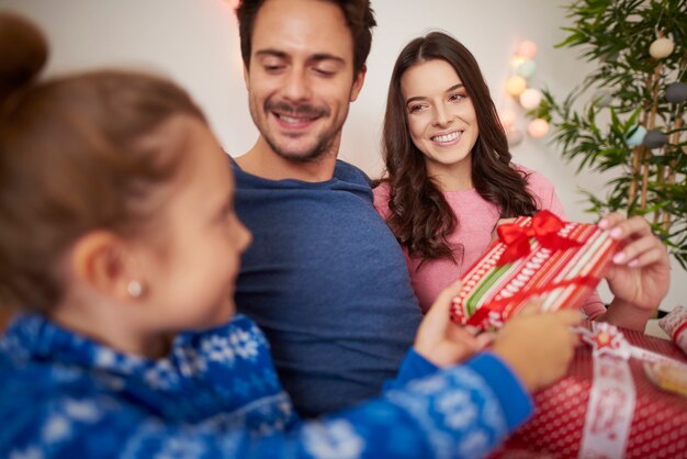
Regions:
<instances>
[{"instance_id":1,"label":"man's short dark brown hair at both sides of his forehead","mask_svg":"<svg viewBox=\"0 0 687 459\"><path fill-rule=\"evenodd\" d=\"M252 44L252 31L256 18L266 0L241 0L236 8L238 18L238 33L241 44L241 57L246 68L250 66L250 53ZM376 25L374 11L370 7L370 0L318 0L337 4L353 38L353 75L364 68L365 60L372 45L372 27Z\"/></svg>"}]
</instances>

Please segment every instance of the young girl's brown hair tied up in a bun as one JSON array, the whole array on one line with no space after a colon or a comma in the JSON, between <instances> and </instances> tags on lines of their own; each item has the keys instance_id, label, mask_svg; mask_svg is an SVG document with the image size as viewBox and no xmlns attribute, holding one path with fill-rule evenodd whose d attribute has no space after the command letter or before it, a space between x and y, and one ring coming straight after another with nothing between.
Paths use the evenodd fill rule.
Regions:
<instances>
[{"instance_id":1,"label":"young girl's brown hair tied up in a bun","mask_svg":"<svg viewBox=\"0 0 687 459\"><path fill-rule=\"evenodd\" d=\"M8 23L12 34L2 32ZM144 139L172 115L204 122L187 92L148 75L101 70L35 82L46 55L40 31L0 15L0 303L38 311L59 301L56 266L81 235L131 235L149 223L143 210L181 154Z\"/></svg>"}]
</instances>

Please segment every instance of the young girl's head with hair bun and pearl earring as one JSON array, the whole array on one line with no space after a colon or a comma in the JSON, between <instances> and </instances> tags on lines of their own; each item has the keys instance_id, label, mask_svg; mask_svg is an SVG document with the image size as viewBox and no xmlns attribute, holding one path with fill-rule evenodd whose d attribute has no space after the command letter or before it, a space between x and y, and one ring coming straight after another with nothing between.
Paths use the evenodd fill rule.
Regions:
<instances>
[{"instance_id":1,"label":"young girl's head with hair bun and pearl earring","mask_svg":"<svg viewBox=\"0 0 687 459\"><path fill-rule=\"evenodd\" d=\"M21 56L46 48L40 32L4 22L23 25L0 32L0 302L59 315L106 299L168 332L228 320L250 236L199 108L137 72L35 82Z\"/></svg>"}]
</instances>

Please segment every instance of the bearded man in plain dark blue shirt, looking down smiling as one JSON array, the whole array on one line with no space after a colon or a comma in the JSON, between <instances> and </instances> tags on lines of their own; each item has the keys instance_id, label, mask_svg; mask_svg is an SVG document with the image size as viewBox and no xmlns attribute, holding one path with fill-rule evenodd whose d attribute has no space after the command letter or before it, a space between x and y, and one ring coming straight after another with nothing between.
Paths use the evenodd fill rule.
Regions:
<instances>
[{"instance_id":1,"label":"bearded man in plain dark blue shirt, looking down smiling","mask_svg":"<svg viewBox=\"0 0 687 459\"><path fill-rule=\"evenodd\" d=\"M315 416L378 393L420 322L368 178L337 160L375 21L368 0L246 0L237 15L260 136L235 164L255 236L236 299L300 414Z\"/></svg>"}]
</instances>

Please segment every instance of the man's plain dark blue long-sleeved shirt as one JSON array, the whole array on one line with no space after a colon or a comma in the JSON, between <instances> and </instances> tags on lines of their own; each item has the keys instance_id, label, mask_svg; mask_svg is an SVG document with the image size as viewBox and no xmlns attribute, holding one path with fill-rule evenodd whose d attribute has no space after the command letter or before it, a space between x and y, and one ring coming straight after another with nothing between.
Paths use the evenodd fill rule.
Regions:
<instances>
[{"instance_id":1,"label":"man's plain dark blue long-sleeved shirt","mask_svg":"<svg viewBox=\"0 0 687 459\"><path fill-rule=\"evenodd\" d=\"M421 313L367 176L339 160L331 180L274 181L232 163L236 210L254 234L236 303L267 335L296 410L309 417L378 394Z\"/></svg>"}]
</instances>

